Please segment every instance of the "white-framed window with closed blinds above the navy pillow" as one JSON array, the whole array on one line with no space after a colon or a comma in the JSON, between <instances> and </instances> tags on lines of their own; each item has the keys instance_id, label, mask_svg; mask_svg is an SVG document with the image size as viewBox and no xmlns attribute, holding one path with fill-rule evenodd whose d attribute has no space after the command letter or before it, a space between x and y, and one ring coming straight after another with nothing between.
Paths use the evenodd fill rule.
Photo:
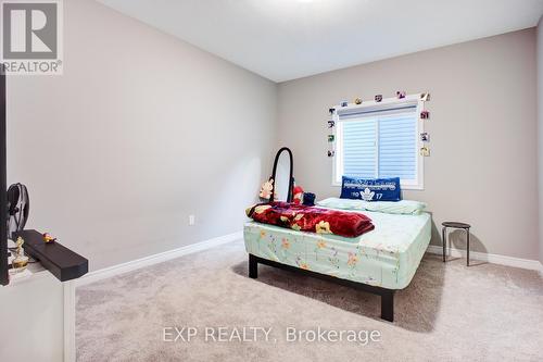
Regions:
<instances>
[{"instance_id":1,"label":"white-framed window with closed blinds above the navy pillow","mask_svg":"<svg viewBox=\"0 0 543 362\"><path fill-rule=\"evenodd\" d=\"M418 96L337 108L333 184L341 176L400 177L406 189L422 189Z\"/></svg>"}]
</instances>

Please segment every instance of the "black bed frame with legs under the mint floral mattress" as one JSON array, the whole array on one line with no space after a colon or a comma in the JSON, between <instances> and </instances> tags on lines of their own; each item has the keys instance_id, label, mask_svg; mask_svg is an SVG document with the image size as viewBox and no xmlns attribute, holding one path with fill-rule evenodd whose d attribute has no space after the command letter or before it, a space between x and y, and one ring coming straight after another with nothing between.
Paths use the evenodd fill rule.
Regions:
<instances>
[{"instance_id":1,"label":"black bed frame with legs under the mint floral mattress","mask_svg":"<svg viewBox=\"0 0 543 362\"><path fill-rule=\"evenodd\" d=\"M320 274L316 272L311 272L307 270L299 269L295 266L281 264L272 260L263 259L253 254L249 254L249 277L256 279L258 277L258 263L265 264L285 271L294 272L302 275L313 276L319 279L332 282L336 284L341 284L351 288L361 289L364 291L371 292L374 295L381 296L381 319L389 322L394 322L394 289L384 289L376 286L371 286L364 283L356 283L348 279L340 279L330 275Z\"/></svg>"}]
</instances>

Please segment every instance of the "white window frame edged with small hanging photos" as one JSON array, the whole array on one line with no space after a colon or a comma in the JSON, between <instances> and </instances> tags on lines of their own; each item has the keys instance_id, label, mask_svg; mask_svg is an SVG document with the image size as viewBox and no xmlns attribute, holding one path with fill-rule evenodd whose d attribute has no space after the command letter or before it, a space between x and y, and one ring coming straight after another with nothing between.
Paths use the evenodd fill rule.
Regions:
<instances>
[{"instance_id":1,"label":"white window frame edged with small hanging photos","mask_svg":"<svg viewBox=\"0 0 543 362\"><path fill-rule=\"evenodd\" d=\"M332 114L332 121L334 122L336 126L333 127L333 151L334 151L334 157L333 157L333 162L332 162L332 186L341 186L341 176L340 175L340 167L342 165L342 159L343 154L339 152L339 150L342 149L342 133L340 129L342 128L342 123L343 122L349 122L349 121L340 121L339 113L338 111L340 110L364 110L364 109L370 109L375 107L383 108L383 110L388 108L394 108L397 105L402 104L414 104L416 102L416 110L415 114L417 116L417 129L415 132L415 154L416 154L416 172L415 174L417 175L417 178L415 180L400 180L400 185L402 189L404 190L424 190L425 189L425 157L420 154L420 148L425 146L425 143L420 140L420 134L425 132L425 120L420 117L420 112L425 109L425 102L420 99L420 93L417 95L408 95L403 99L397 99L397 98L387 98L382 99L380 102L376 101L365 101L362 104L350 104L348 107L341 107L341 105L336 105L336 112ZM387 115L382 116L386 117ZM379 127L379 122L377 122L377 127ZM377 134L378 135L378 134ZM376 138L376 147L379 147L379 137L377 136ZM379 152L377 152L378 154ZM378 157L378 155L377 155ZM378 167L378 163L376 163L376 168ZM378 170L376 170L376 174Z\"/></svg>"}]
</instances>

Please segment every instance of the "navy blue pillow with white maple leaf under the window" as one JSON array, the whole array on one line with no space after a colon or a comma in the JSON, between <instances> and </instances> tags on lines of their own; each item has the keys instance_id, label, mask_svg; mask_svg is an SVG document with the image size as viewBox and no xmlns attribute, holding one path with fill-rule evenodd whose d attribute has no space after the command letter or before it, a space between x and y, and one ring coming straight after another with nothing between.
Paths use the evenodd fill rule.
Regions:
<instances>
[{"instance_id":1,"label":"navy blue pillow with white maple leaf under the window","mask_svg":"<svg viewBox=\"0 0 543 362\"><path fill-rule=\"evenodd\" d=\"M400 177L358 178L343 176L340 198L365 201L400 201L402 200Z\"/></svg>"}]
</instances>

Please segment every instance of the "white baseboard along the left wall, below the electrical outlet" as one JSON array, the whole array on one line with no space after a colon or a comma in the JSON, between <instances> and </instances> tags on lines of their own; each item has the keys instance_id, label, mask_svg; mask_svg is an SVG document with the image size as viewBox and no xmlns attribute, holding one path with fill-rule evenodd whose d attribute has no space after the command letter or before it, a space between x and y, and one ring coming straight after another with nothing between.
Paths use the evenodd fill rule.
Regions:
<instances>
[{"instance_id":1,"label":"white baseboard along the left wall, below the electrical outlet","mask_svg":"<svg viewBox=\"0 0 543 362\"><path fill-rule=\"evenodd\" d=\"M193 252L211 249L213 247L231 242L235 240L239 240L243 238L243 232L237 232L224 236L219 236L213 239L209 239L205 241L191 244L185 247L180 247L177 249L164 251L154 255L132 260L123 264L113 265L110 267L104 267L94 272L90 272L89 274L76 279L76 286L83 286L90 283L94 283L101 279L110 278L115 275L128 273L135 271L140 267L157 264L161 262L165 262L167 260L176 259L182 255L187 255Z\"/></svg>"}]
</instances>

